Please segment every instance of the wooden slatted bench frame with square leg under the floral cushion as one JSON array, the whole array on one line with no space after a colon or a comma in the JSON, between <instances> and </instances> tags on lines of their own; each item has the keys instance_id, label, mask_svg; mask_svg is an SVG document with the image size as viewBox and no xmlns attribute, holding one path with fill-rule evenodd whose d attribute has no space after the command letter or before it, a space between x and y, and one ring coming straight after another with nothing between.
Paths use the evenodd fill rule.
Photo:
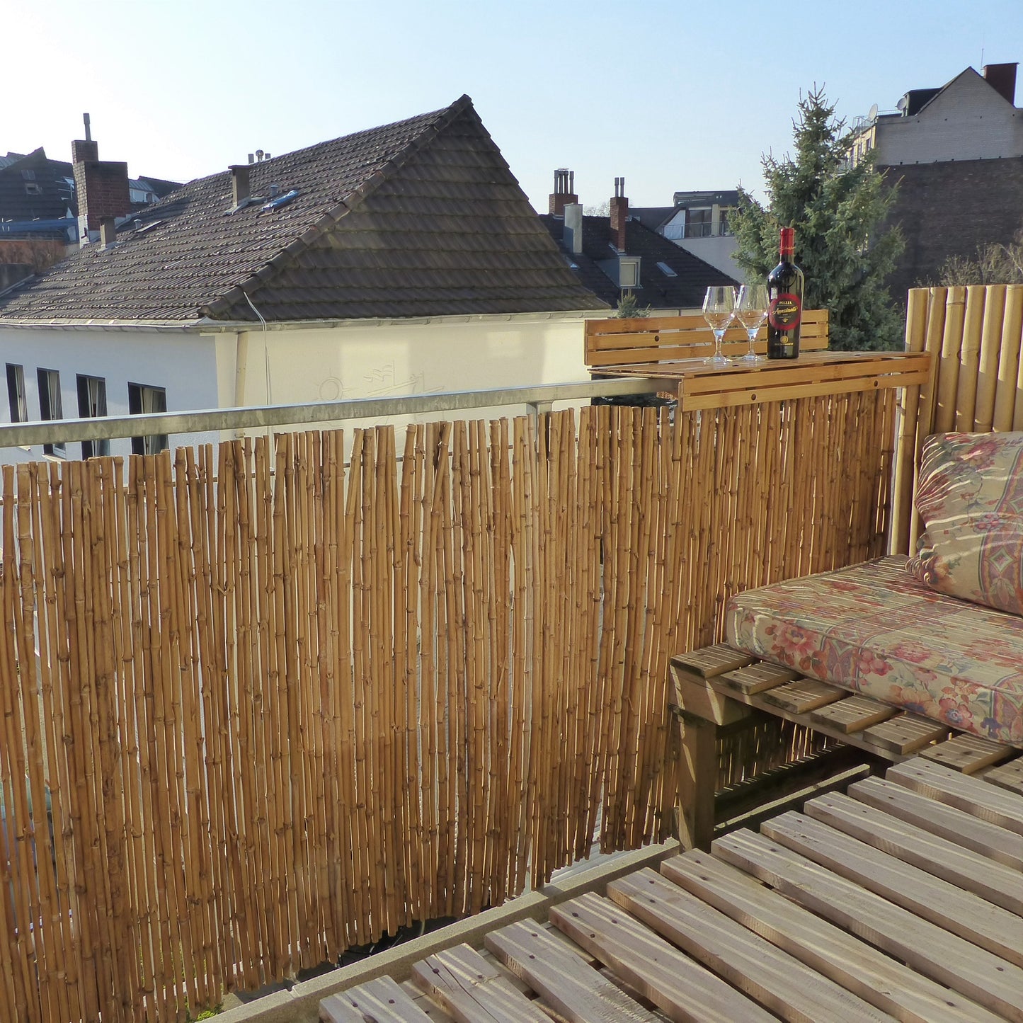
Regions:
<instances>
[{"instance_id":1,"label":"wooden slatted bench frame with square leg under the floral cushion","mask_svg":"<svg viewBox=\"0 0 1023 1023\"><path fill-rule=\"evenodd\" d=\"M725 644L672 658L671 678L682 747L679 835L686 848L708 849L713 839L717 729L733 725L754 709L893 763L916 756L1023 795L1020 750L953 732L947 725L803 678Z\"/></svg>"}]
</instances>

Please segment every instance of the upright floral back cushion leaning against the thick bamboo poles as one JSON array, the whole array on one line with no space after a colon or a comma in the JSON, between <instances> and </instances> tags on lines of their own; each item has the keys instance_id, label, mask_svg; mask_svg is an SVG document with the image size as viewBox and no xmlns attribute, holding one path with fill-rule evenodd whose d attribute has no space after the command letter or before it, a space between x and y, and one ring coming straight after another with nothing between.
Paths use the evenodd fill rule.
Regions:
<instances>
[{"instance_id":1,"label":"upright floral back cushion leaning against the thick bamboo poles","mask_svg":"<svg viewBox=\"0 0 1023 1023\"><path fill-rule=\"evenodd\" d=\"M917 506L927 532L909 571L940 593L1023 615L1023 433L928 437Z\"/></svg>"}]
</instances>

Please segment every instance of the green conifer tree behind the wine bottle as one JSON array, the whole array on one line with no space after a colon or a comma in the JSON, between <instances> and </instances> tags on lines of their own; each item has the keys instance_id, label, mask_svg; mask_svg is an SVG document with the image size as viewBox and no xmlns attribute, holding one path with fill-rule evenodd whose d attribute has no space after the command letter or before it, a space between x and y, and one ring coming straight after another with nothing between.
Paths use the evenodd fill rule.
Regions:
<instances>
[{"instance_id":1,"label":"green conifer tree behind the wine bottle","mask_svg":"<svg viewBox=\"0 0 1023 1023\"><path fill-rule=\"evenodd\" d=\"M829 310L830 347L901 348L901 310L884 286L905 244L897 227L883 226L895 189L883 186L873 152L848 166L852 135L834 114L822 89L800 99L795 159L761 161L766 209L740 187L735 259L751 278L765 277L777 263L780 228L795 227L795 261L806 274L803 302Z\"/></svg>"}]
</instances>

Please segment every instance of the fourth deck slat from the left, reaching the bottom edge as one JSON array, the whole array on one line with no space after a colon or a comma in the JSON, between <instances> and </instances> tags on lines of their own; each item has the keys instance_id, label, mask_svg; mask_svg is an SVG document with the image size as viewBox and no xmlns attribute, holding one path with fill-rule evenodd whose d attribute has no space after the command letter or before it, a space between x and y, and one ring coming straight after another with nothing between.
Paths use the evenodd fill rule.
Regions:
<instances>
[{"instance_id":1,"label":"fourth deck slat from the left, reaching the bottom edge","mask_svg":"<svg viewBox=\"0 0 1023 1023\"><path fill-rule=\"evenodd\" d=\"M672 1020L762 1023L773 1019L620 906L595 893L550 910L551 922Z\"/></svg>"}]
</instances>

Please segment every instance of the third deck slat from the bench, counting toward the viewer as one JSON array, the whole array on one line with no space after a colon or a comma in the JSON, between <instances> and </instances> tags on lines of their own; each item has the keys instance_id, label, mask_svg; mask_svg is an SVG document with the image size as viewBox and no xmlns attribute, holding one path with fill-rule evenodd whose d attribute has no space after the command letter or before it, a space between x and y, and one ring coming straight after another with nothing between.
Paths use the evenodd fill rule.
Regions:
<instances>
[{"instance_id":1,"label":"third deck slat from the bench, counting toward the viewer","mask_svg":"<svg viewBox=\"0 0 1023 1023\"><path fill-rule=\"evenodd\" d=\"M935 877L961 885L1012 913L1023 914L1023 875L1010 866L992 862L980 853L841 793L812 800L805 809L818 820L840 828Z\"/></svg>"}]
</instances>

